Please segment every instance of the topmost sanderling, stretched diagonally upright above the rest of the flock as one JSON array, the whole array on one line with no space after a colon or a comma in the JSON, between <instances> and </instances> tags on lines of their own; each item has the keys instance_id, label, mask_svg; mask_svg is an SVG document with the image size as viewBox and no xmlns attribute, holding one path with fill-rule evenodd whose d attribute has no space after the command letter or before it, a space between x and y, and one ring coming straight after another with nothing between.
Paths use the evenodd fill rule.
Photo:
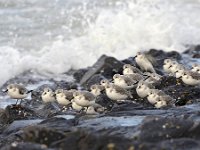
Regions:
<instances>
[{"instance_id":1,"label":"topmost sanderling, stretched diagonally upright above the rest of the flock","mask_svg":"<svg viewBox=\"0 0 200 150\"><path fill-rule=\"evenodd\" d=\"M137 55L135 56L135 61L142 70L156 72L152 63L145 56L145 54L138 52Z\"/></svg>"}]
</instances>

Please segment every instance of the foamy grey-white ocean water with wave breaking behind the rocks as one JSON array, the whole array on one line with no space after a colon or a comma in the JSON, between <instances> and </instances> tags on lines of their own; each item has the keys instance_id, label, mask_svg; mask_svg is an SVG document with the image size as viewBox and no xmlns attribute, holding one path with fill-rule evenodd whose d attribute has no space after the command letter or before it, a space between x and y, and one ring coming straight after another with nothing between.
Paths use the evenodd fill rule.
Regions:
<instances>
[{"instance_id":1,"label":"foamy grey-white ocean water with wave breaking behind the rocks","mask_svg":"<svg viewBox=\"0 0 200 150\"><path fill-rule=\"evenodd\" d=\"M102 54L184 51L200 41L200 0L0 0L0 85L62 74Z\"/></svg>"}]
</instances>

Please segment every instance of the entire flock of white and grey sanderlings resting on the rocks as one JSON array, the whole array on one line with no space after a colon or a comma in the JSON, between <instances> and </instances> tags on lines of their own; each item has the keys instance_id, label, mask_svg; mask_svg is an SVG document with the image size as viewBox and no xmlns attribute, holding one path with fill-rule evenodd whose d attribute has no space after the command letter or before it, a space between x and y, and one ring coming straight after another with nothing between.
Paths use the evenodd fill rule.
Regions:
<instances>
[{"instance_id":1,"label":"entire flock of white and grey sanderlings resting on the rocks","mask_svg":"<svg viewBox=\"0 0 200 150\"><path fill-rule=\"evenodd\" d=\"M96 97L103 92L107 97L115 102L123 100L133 100L130 90L135 89L142 100L146 100L156 108L173 106L175 99L159 89L155 89L154 84L162 76L157 74L152 63L152 59L145 53L138 52L135 62L139 68L130 64L123 66L123 75L115 74L113 80L102 80L100 84L90 87L90 91L78 91L75 89L53 91L45 88L41 99L44 103L57 101L60 105L71 106L74 110L85 111L86 114L98 114L104 108L96 103ZM182 79L183 83L191 86L200 84L200 65L193 64L192 69L187 69L182 64L173 59L165 59L163 70L169 75ZM6 91L12 99L22 100L32 91L28 91L23 85L9 84ZM146 98L146 99L144 99ZM20 102L21 104L21 102Z\"/></svg>"}]
</instances>

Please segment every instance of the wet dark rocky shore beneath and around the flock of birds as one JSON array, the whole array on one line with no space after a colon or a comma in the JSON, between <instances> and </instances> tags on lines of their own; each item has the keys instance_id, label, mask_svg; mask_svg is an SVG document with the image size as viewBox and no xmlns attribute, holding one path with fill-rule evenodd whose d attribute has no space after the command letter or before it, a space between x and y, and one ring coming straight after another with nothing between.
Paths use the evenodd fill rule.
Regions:
<instances>
[{"instance_id":1,"label":"wet dark rocky shore beneath and around the flock of birds","mask_svg":"<svg viewBox=\"0 0 200 150\"><path fill-rule=\"evenodd\" d=\"M139 98L134 90L131 91L133 99L119 103L109 100L105 93L101 94L96 102L105 107L105 112L96 115L64 108L56 102L44 104L41 100L45 87L88 90L102 79L111 79L115 73L121 74L123 64L135 65L133 57L120 61L103 55L92 67L66 73L74 76L74 82L54 79L44 82L43 79L32 78L31 72L24 73L1 87L4 89L12 82L37 85L31 100L24 100L21 105L10 104L0 110L0 149L200 149L200 87L185 85L162 70L166 58L174 58L184 64L183 54L154 49L147 53L155 58L156 71L163 75L155 87L176 99L175 106L156 109L146 98ZM197 62L198 54L199 47L196 47L187 50L184 58ZM184 65L190 66L188 63Z\"/></svg>"}]
</instances>

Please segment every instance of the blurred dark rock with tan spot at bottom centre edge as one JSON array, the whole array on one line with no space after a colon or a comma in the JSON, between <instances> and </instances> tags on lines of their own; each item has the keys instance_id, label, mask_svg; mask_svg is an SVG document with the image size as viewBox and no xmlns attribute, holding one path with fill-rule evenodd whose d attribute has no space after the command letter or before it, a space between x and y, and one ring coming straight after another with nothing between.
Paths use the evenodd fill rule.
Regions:
<instances>
[{"instance_id":1,"label":"blurred dark rock with tan spot at bottom centre edge","mask_svg":"<svg viewBox=\"0 0 200 150\"><path fill-rule=\"evenodd\" d=\"M131 140L123 137L94 135L82 131L67 133L66 138L51 145L60 149L70 147L70 150L124 150L131 146Z\"/></svg>"}]
</instances>

